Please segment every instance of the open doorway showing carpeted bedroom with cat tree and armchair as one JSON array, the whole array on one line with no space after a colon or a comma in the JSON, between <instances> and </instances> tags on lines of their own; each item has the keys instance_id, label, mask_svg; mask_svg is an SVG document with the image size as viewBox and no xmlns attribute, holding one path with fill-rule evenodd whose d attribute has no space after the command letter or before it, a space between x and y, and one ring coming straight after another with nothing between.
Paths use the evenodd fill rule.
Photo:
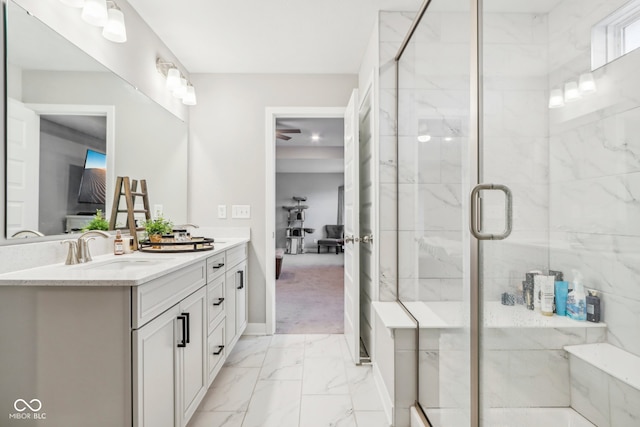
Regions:
<instances>
[{"instance_id":1,"label":"open doorway showing carpeted bedroom with cat tree and armchair","mask_svg":"<svg viewBox=\"0 0 640 427\"><path fill-rule=\"evenodd\" d=\"M276 333L344 332L344 119L276 120Z\"/></svg>"}]
</instances>

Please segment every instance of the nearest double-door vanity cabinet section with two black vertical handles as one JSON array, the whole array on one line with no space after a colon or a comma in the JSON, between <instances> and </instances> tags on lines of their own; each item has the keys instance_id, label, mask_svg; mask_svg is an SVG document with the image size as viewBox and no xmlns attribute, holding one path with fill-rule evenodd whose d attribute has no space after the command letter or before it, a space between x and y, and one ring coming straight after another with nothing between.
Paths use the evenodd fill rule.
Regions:
<instances>
[{"instance_id":1,"label":"nearest double-door vanity cabinet section with two black vertical handles","mask_svg":"<svg viewBox=\"0 0 640 427\"><path fill-rule=\"evenodd\" d=\"M144 307L145 298L151 299L154 306L170 304L171 299L163 300L161 296L171 294L173 288L198 288L132 332L136 427L183 427L206 393L208 317L204 270L205 263L201 262L150 282L148 289L147 285L134 289L134 301L138 301L134 307Z\"/></svg>"}]
</instances>

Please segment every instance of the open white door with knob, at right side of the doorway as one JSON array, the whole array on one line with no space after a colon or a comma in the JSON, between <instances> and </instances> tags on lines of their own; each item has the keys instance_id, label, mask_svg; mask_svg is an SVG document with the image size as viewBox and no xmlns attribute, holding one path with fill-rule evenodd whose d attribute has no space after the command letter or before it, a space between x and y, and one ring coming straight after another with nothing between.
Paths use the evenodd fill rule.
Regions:
<instances>
[{"instance_id":1,"label":"open white door with knob, at right side of the doorway","mask_svg":"<svg viewBox=\"0 0 640 427\"><path fill-rule=\"evenodd\" d=\"M358 164L358 90L344 113L344 335L360 363L360 196Z\"/></svg>"}]
</instances>

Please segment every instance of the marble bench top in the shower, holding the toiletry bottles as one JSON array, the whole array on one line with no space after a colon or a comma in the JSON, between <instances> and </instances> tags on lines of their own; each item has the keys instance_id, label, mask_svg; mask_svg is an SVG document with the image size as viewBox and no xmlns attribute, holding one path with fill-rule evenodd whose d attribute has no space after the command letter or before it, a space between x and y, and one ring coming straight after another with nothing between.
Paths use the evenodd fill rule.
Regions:
<instances>
[{"instance_id":1,"label":"marble bench top in the shower, holding the toiletry bottles","mask_svg":"<svg viewBox=\"0 0 640 427\"><path fill-rule=\"evenodd\" d=\"M397 306L396 308L392 306ZM418 320L420 329L461 328L469 325L469 310L459 301L405 302L404 306ZM415 328L409 315L396 302L374 303L388 328ZM405 317L405 320L402 318ZM605 323L580 322L566 316L543 316L524 306L505 306L488 301L484 310L484 326L487 328L606 328Z\"/></svg>"}]
</instances>

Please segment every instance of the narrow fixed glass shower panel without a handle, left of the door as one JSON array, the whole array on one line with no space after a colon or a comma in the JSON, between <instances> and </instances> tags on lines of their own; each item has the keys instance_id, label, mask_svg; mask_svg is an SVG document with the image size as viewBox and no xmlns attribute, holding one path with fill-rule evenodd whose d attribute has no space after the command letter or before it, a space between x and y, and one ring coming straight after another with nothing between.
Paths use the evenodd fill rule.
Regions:
<instances>
[{"instance_id":1,"label":"narrow fixed glass shower panel without a handle, left of the door","mask_svg":"<svg viewBox=\"0 0 640 427\"><path fill-rule=\"evenodd\" d=\"M470 22L467 2L432 0L397 62L399 299L419 324L417 402L434 427L471 422Z\"/></svg>"}]
</instances>

